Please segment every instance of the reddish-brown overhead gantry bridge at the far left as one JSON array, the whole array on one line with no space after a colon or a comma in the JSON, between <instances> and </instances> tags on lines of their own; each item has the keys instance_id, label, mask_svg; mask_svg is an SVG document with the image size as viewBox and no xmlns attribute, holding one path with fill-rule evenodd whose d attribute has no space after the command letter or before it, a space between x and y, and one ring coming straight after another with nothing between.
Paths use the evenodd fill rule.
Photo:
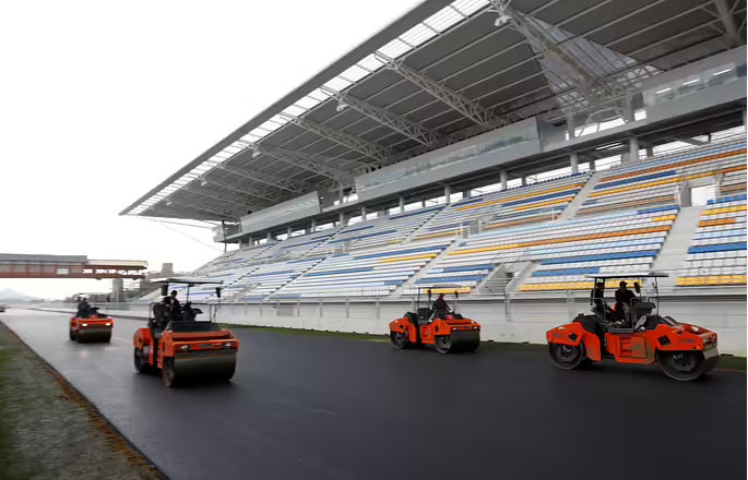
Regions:
<instances>
[{"instance_id":1,"label":"reddish-brown overhead gantry bridge at the far left","mask_svg":"<svg viewBox=\"0 0 748 480\"><path fill-rule=\"evenodd\" d=\"M0 278L144 278L147 266L142 260L0 253Z\"/></svg>"}]
</instances>

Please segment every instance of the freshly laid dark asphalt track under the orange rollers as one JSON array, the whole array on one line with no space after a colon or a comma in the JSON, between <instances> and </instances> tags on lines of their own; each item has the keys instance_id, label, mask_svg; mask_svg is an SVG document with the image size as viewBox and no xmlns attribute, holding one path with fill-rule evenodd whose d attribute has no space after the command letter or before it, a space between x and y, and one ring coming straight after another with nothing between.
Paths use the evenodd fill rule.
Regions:
<instances>
[{"instance_id":1,"label":"freshly laid dark asphalt track under the orange rollers","mask_svg":"<svg viewBox=\"0 0 748 480\"><path fill-rule=\"evenodd\" d=\"M135 373L131 337L68 340L69 315L0 316L171 479L745 479L746 374L680 383L543 351L441 356L249 328L230 383Z\"/></svg>"}]
</instances>

